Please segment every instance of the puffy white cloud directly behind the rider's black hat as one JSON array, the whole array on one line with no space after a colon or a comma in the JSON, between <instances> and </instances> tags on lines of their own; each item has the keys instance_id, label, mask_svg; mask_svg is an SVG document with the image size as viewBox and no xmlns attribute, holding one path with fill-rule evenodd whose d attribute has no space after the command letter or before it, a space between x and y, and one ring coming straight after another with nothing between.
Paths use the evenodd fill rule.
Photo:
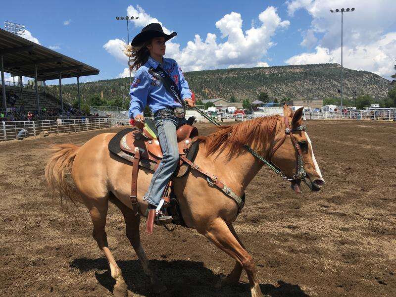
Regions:
<instances>
[{"instance_id":1,"label":"puffy white cloud directly behind the rider's black hat","mask_svg":"<svg viewBox=\"0 0 396 297\"><path fill-rule=\"evenodd\" d=\"M166 43L166 57L178 61L184 71L268 66L263 62L267 50L274 46L271 41L277 30L289 27L288 20L282 20L273 6L267 7L258 14L259 25L253 23L245 32L242 29L243 19L240 13L231 12L215 23L220 31L219 38L214 33L207 33L204 38L196 34L185 47L175 42L175 38ZM144 27L152 22L162 25L165 33L172 31L164 27L156 18L151 17L141 6L129 5L128 16L139 16L132 23ZM109 40L103 48L118 61L126 63L128 57L122 52L125 42L119 39ZM125 72L125 71L124 71ZM122 75L122 73L120 73Z\"/></svg>"}]
</instances>

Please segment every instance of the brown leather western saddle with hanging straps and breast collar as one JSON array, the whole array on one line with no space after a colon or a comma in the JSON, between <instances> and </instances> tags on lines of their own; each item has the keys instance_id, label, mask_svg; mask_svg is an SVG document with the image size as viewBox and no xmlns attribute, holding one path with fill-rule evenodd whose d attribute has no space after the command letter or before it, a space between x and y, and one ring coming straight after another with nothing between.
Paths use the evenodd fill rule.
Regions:
<instances>
[{"instance_id":1,"label":"brown leather western saddle with hanging straps and breast collar","mask_svg":"<svg viewBox=\"0 0 396 297\"><path fill-rule=\"evenodd\" d=\"M245 194L239 197L231 188L220 182L216 176L202 170L196 163L195 157L198 153L199 142L193 139L198 136L198 129L194 127L195 117L190 117L187 123L179 127L176 131L177 142L179 147L179 164L174 176L181 177L187 173L189 168L199 171L205 176L207 182L211 186L217 187L219 190L230 198L234 199L238 205L239 211L245 203ZM126 128L117 133L109 142L108 148L114 154L132 162L132 184L131 184L131 204L135 215L139 213L147 216L147 232L152 234L155 212L154 209L143 213L137 199L137 183L139 167L147 168L155 171L162 159L162 150L157 139L157 131L152 119L145 120L145 128L139 130L137 127ZM169 181L163 193L164 200L168 203L167 211L174 217L172 223L186 226L180 213L178 201L176 197L171 197L172 180ZM174 194L173 194L174 195ZM166 229L168 229L165 226Z\"/></svg>"}]
</instances>

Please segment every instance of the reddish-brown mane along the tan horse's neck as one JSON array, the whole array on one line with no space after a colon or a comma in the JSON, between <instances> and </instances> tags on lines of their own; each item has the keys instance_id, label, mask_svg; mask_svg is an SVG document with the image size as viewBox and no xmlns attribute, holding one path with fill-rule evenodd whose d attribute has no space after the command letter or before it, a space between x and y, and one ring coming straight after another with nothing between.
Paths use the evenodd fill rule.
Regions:
<instances>
[{"instance_id":1,"label":"reddish-brown mane along the tan horse's neck","mask_svg":"<svg viewBox=\"0 0 396 297\"><path fill-rule=\"evenodd\" d=\"M221 152L229 145L227 157L230 159L241 153L244 144L255 149L259 144L273 140L276 124L280 120L280 115L258 117L233 126L221 126L216 132L208 136L198 136L196 139L205 144L206 156Z\"/></svg>"}]
</instances>

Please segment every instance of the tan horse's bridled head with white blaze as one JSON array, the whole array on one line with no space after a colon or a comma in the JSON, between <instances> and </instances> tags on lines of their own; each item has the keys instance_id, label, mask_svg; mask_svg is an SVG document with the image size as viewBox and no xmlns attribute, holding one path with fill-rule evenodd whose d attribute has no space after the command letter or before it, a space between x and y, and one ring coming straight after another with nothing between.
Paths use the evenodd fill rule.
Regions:
<instances>
[{"instance_id":1,"label":"tan horse's bridled head with white blaze","mask_svg":"<svg viewBox=\"0 0 396 297\"><path fill-rule=\"evenodd\" d=\"M285 117L280 123L280 129L277 130L271 155L271 161L284 172L297 193L301 192L301 180L311 191L319 191L325 184L313 154L311 140L305 126L302 126L302 110L301 107L293 113L285 104Z\"/></svg>"}]
</instances>

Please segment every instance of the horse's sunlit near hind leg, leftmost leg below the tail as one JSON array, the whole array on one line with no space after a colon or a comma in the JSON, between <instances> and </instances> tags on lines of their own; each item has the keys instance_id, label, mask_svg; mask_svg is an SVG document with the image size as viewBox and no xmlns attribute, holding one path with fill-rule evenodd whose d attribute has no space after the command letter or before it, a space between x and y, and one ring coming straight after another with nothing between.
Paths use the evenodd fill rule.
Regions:
<instances>
[{"instance_id":1,"label":"horse's sunlit near hind leg, leftmost leg below the tail","mask_svg":"<svg viewBox=\"0 0 396 297\"><path fill-rule=\"evenodd\" d=\"M100 200L95 200L95 203L88 205L92 222L94 224L94 232L92 235L98 243L100 250L103 252L110 266L111 277L115 280L113 289L114 296L127 297L127 285L125 284L125 281L122 277L121 269L118 267L110 249L108 248L107 236L104 230L106 225L108 201L104 198L100 202L99 201Z\"/></svg>"}]
</instances>

